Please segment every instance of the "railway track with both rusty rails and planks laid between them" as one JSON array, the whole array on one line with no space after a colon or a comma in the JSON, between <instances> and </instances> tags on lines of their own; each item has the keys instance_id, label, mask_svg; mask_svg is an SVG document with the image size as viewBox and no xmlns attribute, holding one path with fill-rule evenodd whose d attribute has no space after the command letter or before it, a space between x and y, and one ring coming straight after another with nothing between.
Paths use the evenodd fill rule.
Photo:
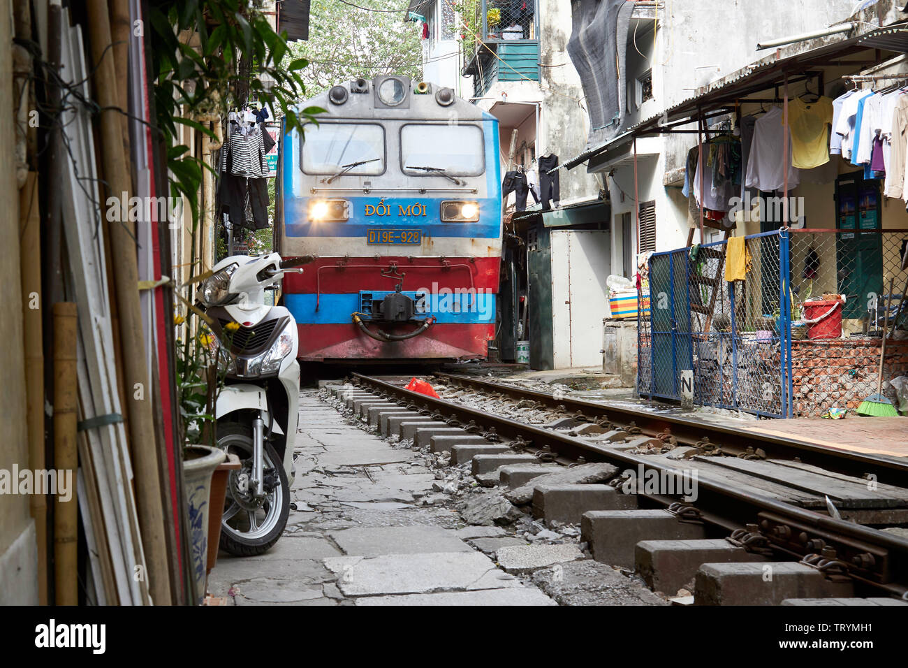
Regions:
<instances>
[{"instance_id":1,"label":"railway track with both rusty rails and planks laid between them","mask_svg":"<svg viewBox=\"0 0 908 668\"><path fill-rule=\"evenodd\" d=\"M468 376L437 374L436 380L445 398L353 374L345 396L363 414L395 414L395 424L412 419L414 434L441 428L497 444L499 452L533 454L555 468L612 464L622 472L609 482L616 491L627 485L628 473L638 480L693 477L696 500L641 486L637 508L671 513L677 523L699 525L705 537L724 538L755 558L800 562L829 583L850 583L855 595L908 600L908 540L865 525L908 522L904 462ZM515 419L518 404L553 419ZM844 519L830 514L840 512ZM583 515L585 532L592 531L587 520L595 514Z\"/></svg>"}]
</instances>

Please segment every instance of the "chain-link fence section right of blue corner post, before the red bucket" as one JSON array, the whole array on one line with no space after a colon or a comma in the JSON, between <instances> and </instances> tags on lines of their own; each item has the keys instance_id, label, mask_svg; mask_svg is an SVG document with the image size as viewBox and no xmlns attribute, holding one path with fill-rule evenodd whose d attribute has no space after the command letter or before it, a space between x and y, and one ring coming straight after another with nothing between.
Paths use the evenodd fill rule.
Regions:
<instances>
[{"instance_id":1,"label":"chain-link fence section right of blue corner post, before the red bucket","mask_svg":"<svg viewBox=\"0 0 908 668\"><path fill-rule=\"evenodd\" d=\"M793 414L854 409L876 394L887 311L882 390L898 405L889 381L908 374L906 243L899 230L791 231Z\"/></svg>"}]
</instances>

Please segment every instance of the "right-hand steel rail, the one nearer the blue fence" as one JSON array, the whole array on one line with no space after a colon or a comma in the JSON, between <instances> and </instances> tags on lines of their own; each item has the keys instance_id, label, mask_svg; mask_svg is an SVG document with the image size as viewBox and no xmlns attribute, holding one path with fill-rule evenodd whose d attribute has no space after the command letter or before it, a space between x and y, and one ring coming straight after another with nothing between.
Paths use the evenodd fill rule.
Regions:
<instances>
[{"instance_id":1,"label":"right-hand steel rail, the one nearer the blue fence","mask_svg":"<svg viewBox=\"0 0 908 668\"><path fill-rule=\"evenodd\" d=\"M848 474L856 478L863 477L864 474L875 474L878 483L908 489L908 460L905 459L879 454L855 453L849 450L832 450L824 445L802 441L794 437L738 431L733 427L721 424L706 424L674 415L636 411L626 406L617 406L607 402L592 402L567 397L557 398L552 394L527 390L514 385L490 383L459 374L438 373L435 375L451 384L504 394L511 399L531 399L552 409L564 406L563 410L568 414L582 413L590 418L604 417L609 422L619 425L634 423L647 436L656 437L667 430L676 437L678 444L694 445L708 437L710 442L720 447L741 452L748 447L754 448L754 450L759 448L766 453L767 459L792 459L796 456L804 464L813 464L828 471Z\"/></svg>"}]
</instances>

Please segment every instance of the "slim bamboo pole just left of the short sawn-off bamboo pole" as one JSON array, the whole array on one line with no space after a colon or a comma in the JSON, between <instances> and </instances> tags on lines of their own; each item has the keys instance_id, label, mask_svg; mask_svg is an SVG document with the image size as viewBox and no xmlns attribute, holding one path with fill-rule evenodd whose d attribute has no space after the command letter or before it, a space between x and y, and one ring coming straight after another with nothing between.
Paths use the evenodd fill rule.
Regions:
<instances>
[{"instance_id":1,"label":"slim bamboo pole just left of the short sawn-off bamboo pole","mask_svg":"<svg viewBox=\"0 0 908 668\"><path fill-rule=\"evenodd\" d=\"M29 172L19 191L19 256L22 267L22 321L25 331L25 424L28 466L44 470L44 351L41 326L41 212L38 175ZM31 497L38 546L38 603L47 601L47 497Z\"/></svg>"}]
</instances>

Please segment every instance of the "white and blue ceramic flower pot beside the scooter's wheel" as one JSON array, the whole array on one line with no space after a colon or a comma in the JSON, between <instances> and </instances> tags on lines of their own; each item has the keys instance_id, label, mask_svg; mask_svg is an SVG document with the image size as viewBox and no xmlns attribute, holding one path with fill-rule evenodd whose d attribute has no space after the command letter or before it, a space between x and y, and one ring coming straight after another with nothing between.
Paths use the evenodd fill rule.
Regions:
<instances>
[{"instance_id":1,"label":"white and blue ceramic flower pot beside the scooter's wheel","mask_svg":"<svg viewBox=\"0 0 908 668\"><path fill-rule=\"evenodd\" d=\"M201 604L205 597L212 473L224 461L224 457L222 450L207 445L191 445L183 450L183 489L189 512L192 581L195 585L193 599L196 605Z\"/></svg>"}]
</instances>

